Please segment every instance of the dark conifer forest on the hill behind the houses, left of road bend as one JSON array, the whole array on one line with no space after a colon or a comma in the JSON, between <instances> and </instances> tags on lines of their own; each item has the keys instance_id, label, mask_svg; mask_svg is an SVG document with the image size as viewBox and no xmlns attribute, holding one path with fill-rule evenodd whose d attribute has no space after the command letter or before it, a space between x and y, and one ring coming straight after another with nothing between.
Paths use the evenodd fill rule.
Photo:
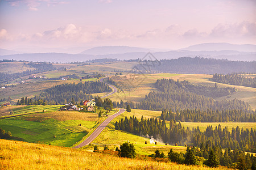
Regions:
<instances>
[{"instance_id":1,"label":"dark conifer forest on the hill behind the houses, left of road bend","mask_svg":"<svg viewBox=\"0 0 256 170\"><path fill-rule=\"evenodd\" d=\"M111 91L110 87L100 81L61 84L48 88L39 96L35 96L35 100L46 100L48 104L67 104L70 101L91 100L93 96L90 94Z\"/></svg>"}]
</instances>

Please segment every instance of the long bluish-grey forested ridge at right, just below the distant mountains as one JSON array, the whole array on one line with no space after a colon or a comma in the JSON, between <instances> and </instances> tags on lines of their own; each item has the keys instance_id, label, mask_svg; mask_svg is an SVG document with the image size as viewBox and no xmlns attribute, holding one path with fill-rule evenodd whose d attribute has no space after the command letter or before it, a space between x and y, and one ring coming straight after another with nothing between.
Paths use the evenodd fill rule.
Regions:
<instances>
[{"instance_id":1,"label":"long bluish-grey forested ridge at right, just below the distant mountains","mask_svg":"<svg viewBox=\"0 0 256 170\"><path fill-rule=\"evenodd\" d=\"M192 74L256 73L256 62L181 57L178 59L161 59L160 61L141 61L134 69L144 71L144 73L148 73L148 71Z\"/></svg>"}]
</instances>

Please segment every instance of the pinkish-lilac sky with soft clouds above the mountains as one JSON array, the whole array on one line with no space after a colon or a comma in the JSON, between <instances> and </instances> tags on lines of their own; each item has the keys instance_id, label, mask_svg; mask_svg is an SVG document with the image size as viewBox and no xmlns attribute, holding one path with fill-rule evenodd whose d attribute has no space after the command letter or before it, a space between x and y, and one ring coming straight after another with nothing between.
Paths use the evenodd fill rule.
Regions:
<instances>
[{"instance_id":1,"label":"pinkish-lilac sky with soft clouds above the mountains","mask_svg":"<svg viewBox=\"0 0 256 170\"><path fill-rule=\"evenodd\" d=\"M255 0L0 0L0 48L256 44Z\"/></svg>"}]
</instances>

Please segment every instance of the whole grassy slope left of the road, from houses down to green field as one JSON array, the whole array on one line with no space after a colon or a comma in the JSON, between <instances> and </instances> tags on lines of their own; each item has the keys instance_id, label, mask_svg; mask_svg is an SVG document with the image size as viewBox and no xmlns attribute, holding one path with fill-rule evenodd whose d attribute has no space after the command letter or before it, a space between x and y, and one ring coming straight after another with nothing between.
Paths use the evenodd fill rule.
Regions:
<instances>
[{"instance_id":1,"label":"whole grassy slope left of the road, from houses down to green field","mask_svg":"<svg viewBox=\"0 0 256 170\"><path fill-rule=\"evenodd\" d=\"M60 106L46 105L14 107L14 114L35 113L0 120L0 127L11 131L14 137L27 142L51 143L70 147L96 128L106 117L98 118L98 112L57 111ZM47 112L42 112L42 110ZM113 114L117 111L112 111ZM81 124L81 126L79 126Z\"/></svg>"}]
</instances>

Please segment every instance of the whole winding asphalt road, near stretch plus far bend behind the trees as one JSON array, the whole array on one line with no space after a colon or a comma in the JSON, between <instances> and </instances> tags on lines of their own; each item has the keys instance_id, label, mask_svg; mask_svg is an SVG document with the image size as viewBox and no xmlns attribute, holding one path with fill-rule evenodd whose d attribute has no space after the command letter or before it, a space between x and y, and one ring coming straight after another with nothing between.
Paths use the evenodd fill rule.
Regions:
<instances>
[{"instance_id":1,"label":"whole winding asphalt road, near stretch plus far bend behind the trees","mask_svg":"<svg viewBox=\"0 0 256 170\"><path fill-rule=\"evenodd\" d=\"M100 81L103 82L103 79L105 78L101 78ZM106 83L108 84L108 83ZM111 84L108 84L110 88L112 88L112 92L108 95L102 96L106 97L106 96L110 96L112 94L114 94L115 92L117 92L117 88L112 86ZM90 142L92 142L95 138L98 137L98 135L100 135L100 133L102 132L102 130L104 130L106 128L106 126L117 116L119 116L119 114L122 114L123 112L125 112L125 109L119 109L119 112L113 114L112 116L109 116L105 121L103 121L100 126L98 126L98 128L96 128L92 134L89 135L88 138L85 139L85 141L83 141L82 143L80 143L79 145L73 147L73 148L80 148L83 147L85 145L89 145Z\"/></svg>"}]
</instances>

